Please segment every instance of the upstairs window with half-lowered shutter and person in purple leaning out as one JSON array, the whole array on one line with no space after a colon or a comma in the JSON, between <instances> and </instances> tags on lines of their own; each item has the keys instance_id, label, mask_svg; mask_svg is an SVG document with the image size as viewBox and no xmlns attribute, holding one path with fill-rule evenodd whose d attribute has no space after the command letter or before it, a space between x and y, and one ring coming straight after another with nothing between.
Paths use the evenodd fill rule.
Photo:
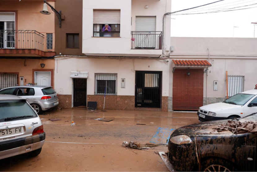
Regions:
<instances>
[{"instance_id":1,"label":"upstairs window with half-lowered shutter and person in purple leaning out","mask_svg":"<svg viewBox=\"0 0 257 172\"><path fill-rule=\"evenodd\" d=\"M120 37L120 10L94 10L93 27L94 37Z\"/></svg>"}]
</instances>

